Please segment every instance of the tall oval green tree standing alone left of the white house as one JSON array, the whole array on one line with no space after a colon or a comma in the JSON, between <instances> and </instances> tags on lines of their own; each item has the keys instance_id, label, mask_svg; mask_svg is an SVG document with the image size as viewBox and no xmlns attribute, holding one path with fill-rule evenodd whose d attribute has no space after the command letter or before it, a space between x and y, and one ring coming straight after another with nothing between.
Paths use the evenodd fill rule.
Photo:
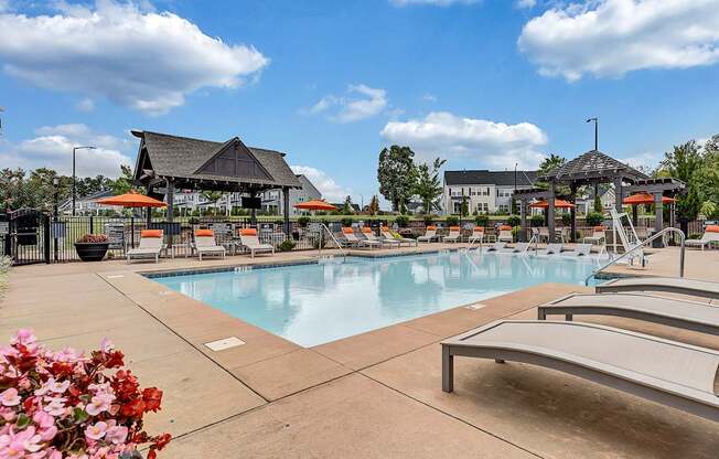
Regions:
<instances>
[{"instance_id":1,"label":"tall oval green tree standing alone left of the white house","mask_svg":"<svg viewBox=\"0 0 719 459\"><path fill-rule=\"evenodd\" d=\"M379 152L377 181L379 193L391 203L393 211L405 209L416 182L415 152L409 147L393 145Z\"/></svg>"}]
</instances>

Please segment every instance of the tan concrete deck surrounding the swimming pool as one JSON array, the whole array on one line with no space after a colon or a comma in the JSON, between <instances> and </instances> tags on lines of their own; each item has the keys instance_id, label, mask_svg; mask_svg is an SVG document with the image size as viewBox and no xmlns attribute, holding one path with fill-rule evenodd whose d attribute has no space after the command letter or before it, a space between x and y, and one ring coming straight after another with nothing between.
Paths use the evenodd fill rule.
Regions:
<instances>
[{"instance_id":1,"label":"tan concrete deck surrounding the swimming pool","mask_svg":"<svg viewBox=\"0 0 719 459\"><path fill-rule=\"evenodd\" d=\"M420 250L448 247L457 245ZM581 286L545 284L305 349L138 274L314 255L17 267L0 302L0 337L32 328L49 346L77 349L110 338L143 386L164 391L148 428L176 438L160 457L716 457L719 425L539 367L458 359L455 393L441 391L439 341L498 318L535 318L537 305ZM645 270L612 271L674 276L677 259L663 249ZM718 280L719 250L688 250L686 267L687 277ZM716 337L582 320L719 349ZM228 337L245 344L205 345Z\"/></svg>"}]
</instances>

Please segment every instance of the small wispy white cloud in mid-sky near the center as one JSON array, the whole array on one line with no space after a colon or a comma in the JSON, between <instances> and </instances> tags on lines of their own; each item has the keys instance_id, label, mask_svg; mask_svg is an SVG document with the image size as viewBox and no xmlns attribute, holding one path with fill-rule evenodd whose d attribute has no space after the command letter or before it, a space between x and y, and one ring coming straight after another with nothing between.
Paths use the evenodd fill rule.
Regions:
<instances>
[{"instance_id":1,"label":"small wispy white cloud in mid-sky near the center","mask_svg":"<svg viewBox=\"0 0 719 459\"><path fill-rule=\"evenodd\" d=\"M387 107L387 92L367 85L350 85L344 96L329 95L322 97L309 114L319 114L334 109L330 119L337 122L352 122L377 115Z\"/></svg>"}]
</instances>

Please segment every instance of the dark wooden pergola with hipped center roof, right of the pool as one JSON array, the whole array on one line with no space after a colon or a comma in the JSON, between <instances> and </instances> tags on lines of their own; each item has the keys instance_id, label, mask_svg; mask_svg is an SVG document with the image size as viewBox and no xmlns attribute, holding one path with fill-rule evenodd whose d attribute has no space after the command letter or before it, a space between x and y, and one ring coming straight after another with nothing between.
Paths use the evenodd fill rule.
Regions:
<instances>
[{"instance_id":1,"label":"dark wooden pergola with hipped center roof, right of the pool","mask_svg":"<svg viewBox=\"0 0 719 459\"><path fill-rule=\"evenodd\" d=\"M608 154L598 150L591 150L579 157L566 162L549 174L541 175L537 179L547 183L546 189L516 190L513 198L522 203L522 232L523 239L527 237L527 209L530 201L547 200L547 226L549 230L549 239L555 239L555 199L557 199L557 188L566 185L569 188L569 194L561 196L576 204L577 190L583 185L594 188L594 195L600 183L612 183L614 185L614 206L616 212L622 212L622 201L624 194L636 192L646 192L654 195L656 206L655 230L663 228L663 209L662 196L675 195L683 192L685 184L682 181L672 178L650 179L636 169L624 164ZM571 207L571 241L576 241L577 234L577 212Z\"/></svg>"}]
</instances>

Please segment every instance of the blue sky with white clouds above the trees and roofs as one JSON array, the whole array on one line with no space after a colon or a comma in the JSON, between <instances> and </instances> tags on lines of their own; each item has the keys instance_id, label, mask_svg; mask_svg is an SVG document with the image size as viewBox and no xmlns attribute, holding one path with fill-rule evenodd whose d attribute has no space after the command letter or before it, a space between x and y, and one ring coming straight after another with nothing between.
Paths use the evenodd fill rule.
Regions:
<instances>
[{"instance_id":1,"label":"blue sky with white clouds above the trees and roofs","mask_svg":"<svg viewBox=\"0 0 719 459\"><path fill-rule=\"evenodd\" d=\"M111 174L129 129L239 136L367 202L393 142L530 168L590 149L599 116L601 150L654 166L719 132L718 0L37 4L0 0L0 167L67 172L93 143L81 173Z\"/></svg>"}]
</instances>

